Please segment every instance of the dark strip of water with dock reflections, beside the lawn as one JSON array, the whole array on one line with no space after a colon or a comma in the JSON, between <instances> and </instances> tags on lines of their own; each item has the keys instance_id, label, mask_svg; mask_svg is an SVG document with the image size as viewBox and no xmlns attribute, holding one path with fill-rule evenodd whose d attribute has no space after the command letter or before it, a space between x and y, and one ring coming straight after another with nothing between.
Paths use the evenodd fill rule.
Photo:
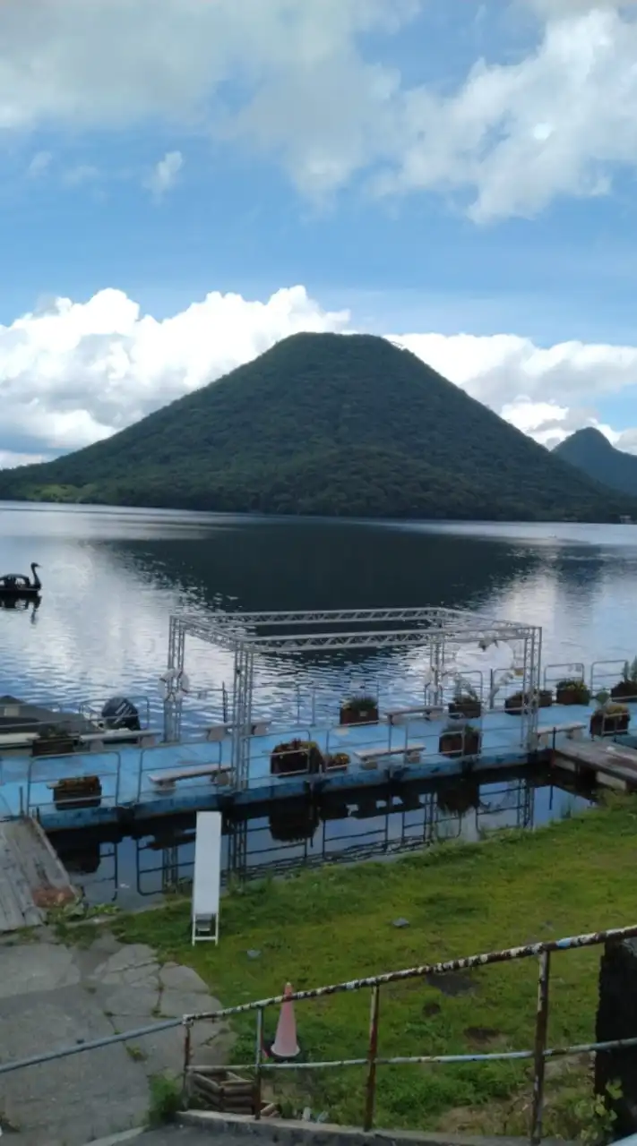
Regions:
<instances>
[{"instance_id":1,"label":"dark strip of water with dock reflections, beside the lawn","mask_svg":"<svg viewBox=\"0 0 637 1146\"><path fill-rule=\"evenodd\" d=\"M224 879L391 858L444 840L476 841L496 829L565 819L591 802L569 774L499 769L298 800L269 814L257 808L224 822ZM147 831L140 825L137 834L56 832L52 841L90 903L130 909L186 888L193 876L194 816L163 821L152 835Z\"/></svg>"}]
</instances>

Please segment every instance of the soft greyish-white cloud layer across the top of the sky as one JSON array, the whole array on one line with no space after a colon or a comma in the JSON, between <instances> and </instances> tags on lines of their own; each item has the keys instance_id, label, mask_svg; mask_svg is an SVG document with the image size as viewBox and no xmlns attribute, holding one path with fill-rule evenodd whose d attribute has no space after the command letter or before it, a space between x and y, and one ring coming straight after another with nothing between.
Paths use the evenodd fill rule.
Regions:
<instances>
[{"instance_id":1,"label":"soft greyish-white cloud layer across the top of the sky","mask_svg":"<svg viewBox=\"0 0 637 1146\"><path fill-rule=\"evenodd\" d=\"M637 166L636 7L511 2L526 54L494 44L441 93L425 49L411 87L384 56L419 14L426 45L426 0L155 0L152 19L147 0L5 0L0 128L163 121L263 150L308 194L363 172L383 194L463 193L476 221L606 194Z\"/></svg>"}]
</instances>

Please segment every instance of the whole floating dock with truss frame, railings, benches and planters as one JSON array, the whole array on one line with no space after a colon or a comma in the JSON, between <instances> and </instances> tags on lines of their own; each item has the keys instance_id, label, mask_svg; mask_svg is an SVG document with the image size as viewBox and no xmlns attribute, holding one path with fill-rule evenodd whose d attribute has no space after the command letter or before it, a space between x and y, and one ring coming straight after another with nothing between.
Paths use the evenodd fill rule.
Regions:
<instances>
[{"instance_id":1,"label":"whole floating dock with truss frame, railings, benches and planters","mask_svg":"<svg viewBox=\"0 0 637 1146\"><path fill-rule=\"evenodd\" d=\"M187 639L193 638L234 658L232 690L193 686L185 672ZM489 650L496 647L498 654L508 650L508 668L491 666ZM561 755L565 768L584 768L582 741L596 704L551 706L559 691L556 686L560 681L575 681L584 689L586 682L586 696L593 697L613 689L626 676L624 666L597 661L588 670L578 664L547 665L542 670L541 650L537 626L446 609L213 611L204 617L172 617L170 668L160 678L163 731L150 727L158 701L153 707L146 698L146 719L135 729L78 730L76 751L65 755L42 755L46 741L36 751L29 744L30 732L21 733L25 744L20 754L9 751L0 736L0 816L34 816L46 831L54 832L132 827L197 810L259 807L285 814L286 806L298 798L372 795L386 785L397 790L412 780L523 768L551 761L562 747L580 752L577 759ZM326 654L343 652L356 657L349 684L340 680L337 692L334 681L321 683L328 676L321 677L320 672L305 694L300 676L290 685L283 675L290 656L300 674L308 658L323 662ZM360 700L364 688L370 699L367 682L352 665L359 666L372 652L384 658L371 690L374 719L352 723L350 701L357 696ZM564 686L561 691L569 692ZM220 694L216 709L210 702L213 692ZM536 704L522 702L521 698L531 696ZM459 706L463 698L468 713ZM14 698L5 700L14 702ZM205 713L201 700L207 701ZM135 705L134 711L141 712L143 706ZM635 717L637 704L628 707ZM100 712L103 715L102 702L85 704L80 712L84 720L93 720ZM458 715L450 725L453 713ZM465 743L460 729L467 724L471 736ZM94 721L92 727L96 728ZM460 743L458 751L443 740L449 735ZM626 746L630 737L616 740ZM292 751L303 755L308 744L319 764L309 767L308 749L306 764L279 774L278 758ZM600 747L596 756L598 762L606 761L606 770L598 769L600 776L611 775L608 754L609 749ZM619 758L611 764L617 782L630 786L630 764ZM628 769L627 774L621 769ZM590 759L589 771L595 772Z\"/></svg>"}]
</instances>

